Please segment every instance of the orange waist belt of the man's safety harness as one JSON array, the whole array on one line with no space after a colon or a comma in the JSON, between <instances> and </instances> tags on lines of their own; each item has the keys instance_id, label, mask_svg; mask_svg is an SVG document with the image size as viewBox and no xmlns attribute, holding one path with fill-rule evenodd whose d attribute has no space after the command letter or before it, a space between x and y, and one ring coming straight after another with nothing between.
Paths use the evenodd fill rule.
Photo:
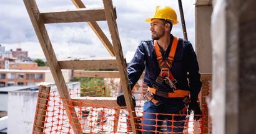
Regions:
<instances>
[{"instance_id":1,"label":"orange waist belt of the man's safety harness","mask_svg":"<svg viewBox=\"0 0 256 134\"><path fill-rule=\"evenodd\" d=\"M177 89L174 92L164 92L164 91L156 90L153 87L147 87L147 91L150 91L157 96L162 96L165 98L189 96L189 91L185 91L181 89Z\"/></svg>"}]
</instances>

